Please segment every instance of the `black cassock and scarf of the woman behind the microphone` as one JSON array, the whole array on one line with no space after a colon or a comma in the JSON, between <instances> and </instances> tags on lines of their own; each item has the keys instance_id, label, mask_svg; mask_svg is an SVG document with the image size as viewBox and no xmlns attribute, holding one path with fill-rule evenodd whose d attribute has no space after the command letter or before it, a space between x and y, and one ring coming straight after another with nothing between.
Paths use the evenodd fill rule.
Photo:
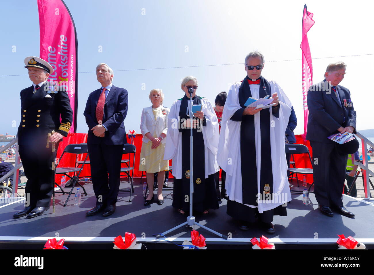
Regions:
<instances>
[{"instance_id":1,"label":"black cassock and scarf of the woman behind the microphone","mask_svg":"<svg viewBox=\"0 0 374 275\"><path fill-rule=\"evenodd\" d=\"M192 98L193 104L201 104L201 97L197 95ZM184 95L181 98L180 118L188 119L187 107L189 98ZM200 121L200 120L198 120ZM180 125L180 123L179 123ZM202 127L206 126L205 118L202 121ZM183 129L182 132L182 179L174 178L173 189L173 207L183 209L188 213L190 207L190 128ZM205 178L205 155L203 132L193 128L193 210L203 212L208 209L218 209L217 194L215 192L214 174ZM186 197L187 196L187 197Z\"/></svg>"}]
</instances>

